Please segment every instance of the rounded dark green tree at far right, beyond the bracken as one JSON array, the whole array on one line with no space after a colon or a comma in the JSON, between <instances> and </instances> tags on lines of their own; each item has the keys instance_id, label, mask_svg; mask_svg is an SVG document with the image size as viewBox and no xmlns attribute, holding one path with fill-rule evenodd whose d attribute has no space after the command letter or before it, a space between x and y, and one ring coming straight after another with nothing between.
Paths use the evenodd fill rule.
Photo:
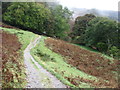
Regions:
<instances>
[{"instance_id":1,"label":"rounded dark green tree at far right, beyond the bracken","mask_svg":"<svg viewBox=\"0 0 120 90\"><path fill-rule=\"evenodd\" d=\"M86 45L95 46L98 50L107 52L112 46L118 44L117 28L117 22L108 18L97 17L92 19L85 32Z\"/></svg>"}]
</instances>

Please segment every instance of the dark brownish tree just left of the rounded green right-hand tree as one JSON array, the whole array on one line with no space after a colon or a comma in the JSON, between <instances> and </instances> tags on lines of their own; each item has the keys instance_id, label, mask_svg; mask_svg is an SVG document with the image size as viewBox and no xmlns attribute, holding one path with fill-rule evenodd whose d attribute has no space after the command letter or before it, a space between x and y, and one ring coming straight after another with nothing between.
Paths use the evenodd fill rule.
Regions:
<instances>
[{"instance_id":1,"label":"dark brownish tree just left of the rounded green right-hand tree","mask_svg":"<svg viewBox=\"0 0 120 90\"><path fill-rule=\"evenodd\" d=\"M83 41L82 38L84 38L85 30L89 26L88 23L93 18L95 18L93 14L86 14L84 16L79 16L75 19L75 24L74 24L73 32L71 33L71 36L76 43ZM78 36L80 38L76 39L76 37Z\"/></svg>"}]
</instances>

